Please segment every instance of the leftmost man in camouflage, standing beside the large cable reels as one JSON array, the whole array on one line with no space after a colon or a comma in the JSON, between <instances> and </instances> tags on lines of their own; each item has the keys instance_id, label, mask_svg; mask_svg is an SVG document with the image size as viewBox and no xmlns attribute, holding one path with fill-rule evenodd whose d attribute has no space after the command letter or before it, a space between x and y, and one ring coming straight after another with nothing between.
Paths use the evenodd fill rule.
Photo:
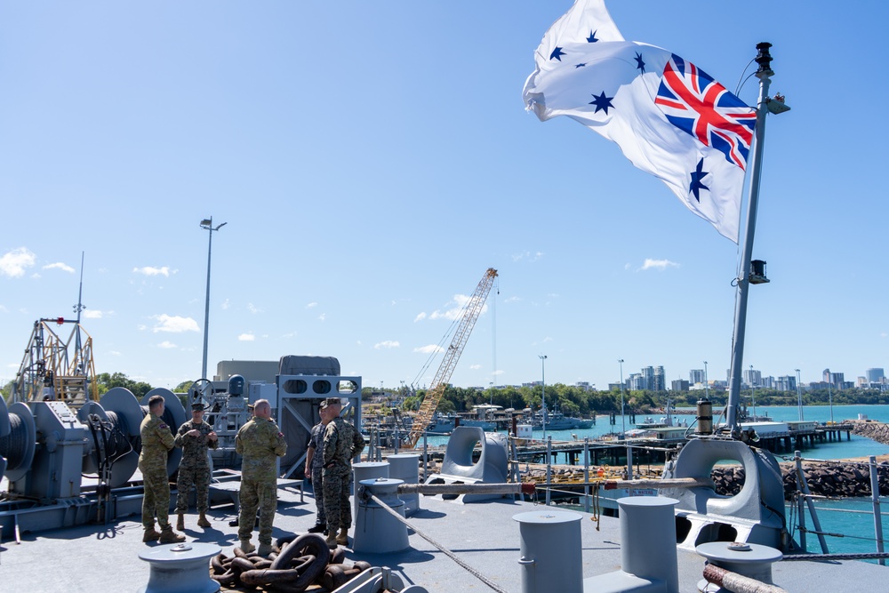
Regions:
<instances>
[{"instance_id":1,"label":"leftmost man in camouflage, standing beside the large cable reels","mask_svg":"<svg viewBox=\"0 0 889 593\"><path fill-rule=\"evenodd\" d=\"M176 543L185 541L185 536L176 533L170 525L170 475L167 473L167 452L176 446L170 427L161 416L164 415L164 397L148 398L148 415L142 419L139 435L142 451L139 453L139 469L142 472L142 525L145 534L142 541ZM161 527L155 530L155 516Z\"/></svg>"}]
</instances>

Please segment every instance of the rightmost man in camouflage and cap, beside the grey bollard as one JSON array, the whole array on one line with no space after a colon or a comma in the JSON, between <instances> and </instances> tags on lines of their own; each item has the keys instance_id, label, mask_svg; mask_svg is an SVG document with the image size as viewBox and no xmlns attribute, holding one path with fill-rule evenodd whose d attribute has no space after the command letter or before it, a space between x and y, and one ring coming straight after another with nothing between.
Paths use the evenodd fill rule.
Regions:
<instances>
[{"instance_id":1,"label":"rightmost man in camouflage and cap, beside the grey bollard","mask_svg":"<svg viewBox=\"0 0 889 593\"><path fill-rule=\"evenodd\" d=\"M324 512L327 513L327 545L336 548L337 544L348 544L348 528L352 526L352 509L348 505L352 458L364 450L364 437L340 418L339 397L328 397L323 405L330 414L330 421L324 427Z\"/></svg>"}]
</instances>

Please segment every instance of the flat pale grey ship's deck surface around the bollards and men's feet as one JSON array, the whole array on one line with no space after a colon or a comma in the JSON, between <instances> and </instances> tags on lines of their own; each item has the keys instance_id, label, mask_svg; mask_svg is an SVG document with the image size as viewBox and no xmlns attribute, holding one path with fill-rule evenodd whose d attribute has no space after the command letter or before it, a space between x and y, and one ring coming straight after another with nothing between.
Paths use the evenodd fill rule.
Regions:
<instances>
[{"instance_id":1,"label":"flat pale grey ship's deck surface around the bollards and men's feet","mask_svg":"<svg viewBox=\"0 0 889 593\"><path fill-rule=\"evenodd\" d=\"M300 502L299 493L280 492L276 537L305 532L314 525L315 503L310 491L304 502ZM417 530L453 551L501 589L518 592L522 590L517 564L520 557L519 524L512 517L534 509L541 507L535 507L531 502L506 499L461 504L420 497L420 509L408 520ZM213 526L207 530L196 527L195 514L188 515L185 530L188 541L215 543L230 555L236 543L237 528L230 527L228 521L235 512L230 504L213 507L209 513ZM581 521L584 578L620 570L619 520L602 517L597 530L597 524L589 517L585 515ZM110 593L136 591L148 582L148 564L139 558L147 545L141 541L138 516L112 525L82 525L25 533L21 544L14 542L12 533L4 531L2 535L0 589L4 591ZM255 536L253 541L255 543ZM372 565L388 566L401 576L405 586L417 584L433 593L491 590L416 533L410 532L410 546L403 552L360 556L348 549L347 557L348 560L360 559ZM679 550L678 562L680 590L684 593L696 591L696 583L701 580L703 558ZM773 580L794 593L843 591L860 586L869 591L889 591L889 573L885 567L857 561L779 562L773 565Z\"/></svg>"}]
</instances>

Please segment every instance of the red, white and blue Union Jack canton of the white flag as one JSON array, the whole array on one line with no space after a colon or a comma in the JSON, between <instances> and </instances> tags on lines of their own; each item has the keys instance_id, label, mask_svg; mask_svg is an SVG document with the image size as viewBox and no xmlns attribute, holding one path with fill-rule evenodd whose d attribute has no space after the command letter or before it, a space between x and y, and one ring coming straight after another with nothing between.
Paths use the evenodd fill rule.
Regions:
<instances>
[{"instance_id":1,"label":"red, white and blue Union Jack canton of the white flag","mask_svg":"<svg viewBox=\"0 0 889 593\"><path fill-rule=\"evenodd\" d=\"M671 124L746 168L757 113L706 72L672 54L654 102Z\"/></svg>"}]
</instances>

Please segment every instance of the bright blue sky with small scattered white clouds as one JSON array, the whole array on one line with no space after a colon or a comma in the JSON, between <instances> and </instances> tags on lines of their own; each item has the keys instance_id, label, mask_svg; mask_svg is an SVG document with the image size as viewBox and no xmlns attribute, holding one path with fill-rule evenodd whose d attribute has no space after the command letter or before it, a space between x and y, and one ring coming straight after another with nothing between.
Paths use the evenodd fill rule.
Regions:
<instances>
[{"instance_id":1,"label":"bright blue sky with small scattered white clouds","mask_svg":"<svg viewBox=\"0 0 889 593\"><path fill-rule=\"evenodd\" d=\"M158 387L210 368L340 359L420 373L486 268L452 382L729 366L739 252L611 142L521 99L571 3L0 4L0 380L34 321L72 317L81 253L97 370ZM889 5L613 0L624 37L729 89L760 41L772 91L744 367L889 367L878 68ZM756 80L739 93L754 103Z\"/></svg>"}]
</instances>

